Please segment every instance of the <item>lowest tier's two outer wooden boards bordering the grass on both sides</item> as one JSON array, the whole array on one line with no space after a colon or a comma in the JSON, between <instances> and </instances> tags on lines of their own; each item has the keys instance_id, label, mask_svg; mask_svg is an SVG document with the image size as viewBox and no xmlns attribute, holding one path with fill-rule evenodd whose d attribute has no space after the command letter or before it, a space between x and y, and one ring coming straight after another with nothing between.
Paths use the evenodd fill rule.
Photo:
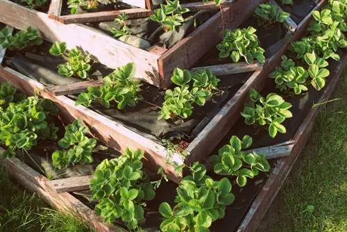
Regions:
<instances>
[{"instance_id":1,"label":"lowest tier's two outer wooden boards bordering the grass on both sides","mask_svg":"<svg viewBox=\"0 0 347 232\"><path fill-rule=\"evenodd\" d=\"M346 63L347 57L345 54L341 57L339 65L330 74L329 78L331 78L331 81L329 85L325 86L324 90L322 90L319 102L327 101L329 99L337 85L339 76L346 66ZM259 224L260 220L266 213L267 208L271 205L276 193L280 189L283 181L289 174L296 158L298 158L301 150L305 147L310 131L312 131L314 120L316 119L320 109L321 106L309 110L309 113L305 116L305 119L296 130L287 154L285 154L287 157L278 160L278 163L272 170L269 179L267 179L266 183L262 186L260 193L257 194L257 197L253 201L253 204L251 204L251 208L248 210L248 213L246 213L246 216L239 225L237 231L255 231L257 224ZM280 151L277 152L280 153ZM49 204L52 204L61 210L71 210L71 212L76 213L76 215L81 217L81 219L84 219L87 223L90 223L98 231L122 231L122 229L110 224L103 224L101 219L96 217L89 207L85 206L69 192L64 192L72 191L71 189L60 190L60 193L54 192L51 188L56 190L57 188L54 187L55 185L49 184L49 182L47 182L48 180L44 176L33 170L18 158L3 160L1 164L8 167L10 174L12 174L19 183L28 188L28 190L37 192L37 194L49 202ZM85 176L85 179L89 179L89 176ZM228 214L226 217L228 217Z\"/></svg>"}]
</instances>

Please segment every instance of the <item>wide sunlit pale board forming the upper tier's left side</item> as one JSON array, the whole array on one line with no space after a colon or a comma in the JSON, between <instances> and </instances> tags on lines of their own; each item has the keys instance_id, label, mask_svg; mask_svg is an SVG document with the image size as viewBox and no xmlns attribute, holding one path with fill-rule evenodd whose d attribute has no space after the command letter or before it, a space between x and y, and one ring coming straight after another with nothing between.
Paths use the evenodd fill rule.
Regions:
<instances>
[{"instance_id":1,"label":"wide sunlit pale board forming the upper tier's left side","mask_svg":"<svg viewBox=\"0 0 347 232\"><path fill-rule=\"evenodd\" d=\"M29 10L8 0L0 1L0 22L19 29L33 26L49 42L65 41L67 49L81 47L89 51L100 63L117 68L126 63L136 64L136 76L153 85L160 85L159 55L115 40L93 28L77 24L62 24L48 15ZM91 45L92 44L92 45Z\"/></svg>"}]
</instances>

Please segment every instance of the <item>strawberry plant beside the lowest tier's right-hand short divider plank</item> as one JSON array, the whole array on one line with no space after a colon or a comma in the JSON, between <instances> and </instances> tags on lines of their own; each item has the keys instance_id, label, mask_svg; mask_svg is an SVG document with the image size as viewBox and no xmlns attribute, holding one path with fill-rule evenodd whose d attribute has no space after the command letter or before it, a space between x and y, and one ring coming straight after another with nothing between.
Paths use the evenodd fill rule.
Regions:
<instances>
[{"instance_id":1,"label":"strawberry plant beside the lowest tier's right-hand short divider plank","mask_svg":"<svg viewBox=\"0 0 347 232\"><path fill-rule=\"evenodd\" d=\"M232 136L230 144L226 144L218 150L218 155L210 157L214 163L214 172L223 176L237 176L237 185L243 187L247 183L247 177L253 179L259 172L269 172L270 165L264 154L258 155L254 151L244 153L242 149L251 147L253 140L245 135L242 140Z\"/></svg>"}]
</instances>

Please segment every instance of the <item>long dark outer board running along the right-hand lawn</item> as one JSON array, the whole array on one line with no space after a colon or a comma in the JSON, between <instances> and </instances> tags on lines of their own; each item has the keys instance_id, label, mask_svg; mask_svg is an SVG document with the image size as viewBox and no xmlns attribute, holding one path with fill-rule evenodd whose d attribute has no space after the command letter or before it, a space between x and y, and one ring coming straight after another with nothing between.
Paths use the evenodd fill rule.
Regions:
<instances>
[{"instance_id":1,"label":"long dark outer board running along the right-hand lawn","mask_svg":"<svg viewBox=\"0 0 347 232\"><path fill-rule=\"evenodd\" d=\"M328 77L334 78L334 80L330 83L330 85L328 85L325 88L325 90L323 90L322 97L319 101L325 101L332 95L332 92L336 88L337 82L339 81L339 76L341 75L341 72L346 66L346 63L347 56L345 55L344 61L341 62L341 65L339 65L339 67L336 69L334 76ZM301 123L294 135L294 140L296 142L294 144L293 149L291 150L291 155L285 158L280 158L280 161L273 169L271 176L269 176L268 181L266 181L262 190L257 195L255 201L253 201L250 210L248 210L248 213L244 217L242 224L240 224L239 229L237 229L237 232L255 231L257 229L257 225L262 220L262 217L264 217L269 206L271 206L273 199L275 199L276 194L278 193L282 184L287 178L296 159L300 155L301 151L304 149L305 144L309 139L308 135L313 129L314 122L319 113L319 110L321 110L320 107L312 108L310 112L307 114L307 116L305 117L305 119L303 120L303 122Z\"/></svg>"}]
</instances>

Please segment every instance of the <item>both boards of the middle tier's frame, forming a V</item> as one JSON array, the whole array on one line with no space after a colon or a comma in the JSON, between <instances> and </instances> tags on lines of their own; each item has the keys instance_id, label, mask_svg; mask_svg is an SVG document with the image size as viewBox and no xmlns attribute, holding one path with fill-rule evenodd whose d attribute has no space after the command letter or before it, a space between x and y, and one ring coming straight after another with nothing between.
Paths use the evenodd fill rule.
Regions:
<instances>
[{"instance_id":1,"label":"both boards of the middle tier's frame, forming a V","mask_svg":"<svg viewBox=\"0 0 347 232\"><path fill-rule=\"evenodd\" d=\"M314 9L319 9L324 1L320 1ZM221 110L215 115L212 120L203 128L192 142L190 142L186 151L189 152L189 156L183 160L181 156L174 156L172 160L180 165L185 162L187 165L194 163L197 160L204 160L210 155L217 144L226 135L228 130L239 119L239 112L242 109L244 102L248 97L248 90L255 88L256 90L262 90L264 88L265 79L269 73L273 70L280 61L280 56L285 52L285 49L294 39L298 39L305 32L305 28L310 22L311 15L307 15L305 19L298 25L298 28L294 31L293 35L287 33L283 46L278 50L268 62L264 64L262 70L256 71L250 78L242 85L242 87L236 92ZM10 81L17 88L22 90L26 94L33 94L36 90L39 94L47 99L58 103L61 114L65 117L67 122L71 122L73 119L80 118L90 126L92 132L101 140L101 142L107 144L109 147L123 152L126 147L133 147L142 149L146 152L146 163L149 167L154 169L158 166L164 168L164 172L169 175L169 178L173 181L180 181L181 174L176 172L173 165L167 164L167 157L169 151L160 144L145 138L138 133L126 128L118 122L112 121L103 115L95 113L93 110L85 108L83 106L75 106L75 102L71 99L63 96L55 96L50 92L47 92L43 85L33 81L22 74L19 74L13 69L8 67L0 67L0 75L2 78Z\"/></svg>"}]
</instances>

